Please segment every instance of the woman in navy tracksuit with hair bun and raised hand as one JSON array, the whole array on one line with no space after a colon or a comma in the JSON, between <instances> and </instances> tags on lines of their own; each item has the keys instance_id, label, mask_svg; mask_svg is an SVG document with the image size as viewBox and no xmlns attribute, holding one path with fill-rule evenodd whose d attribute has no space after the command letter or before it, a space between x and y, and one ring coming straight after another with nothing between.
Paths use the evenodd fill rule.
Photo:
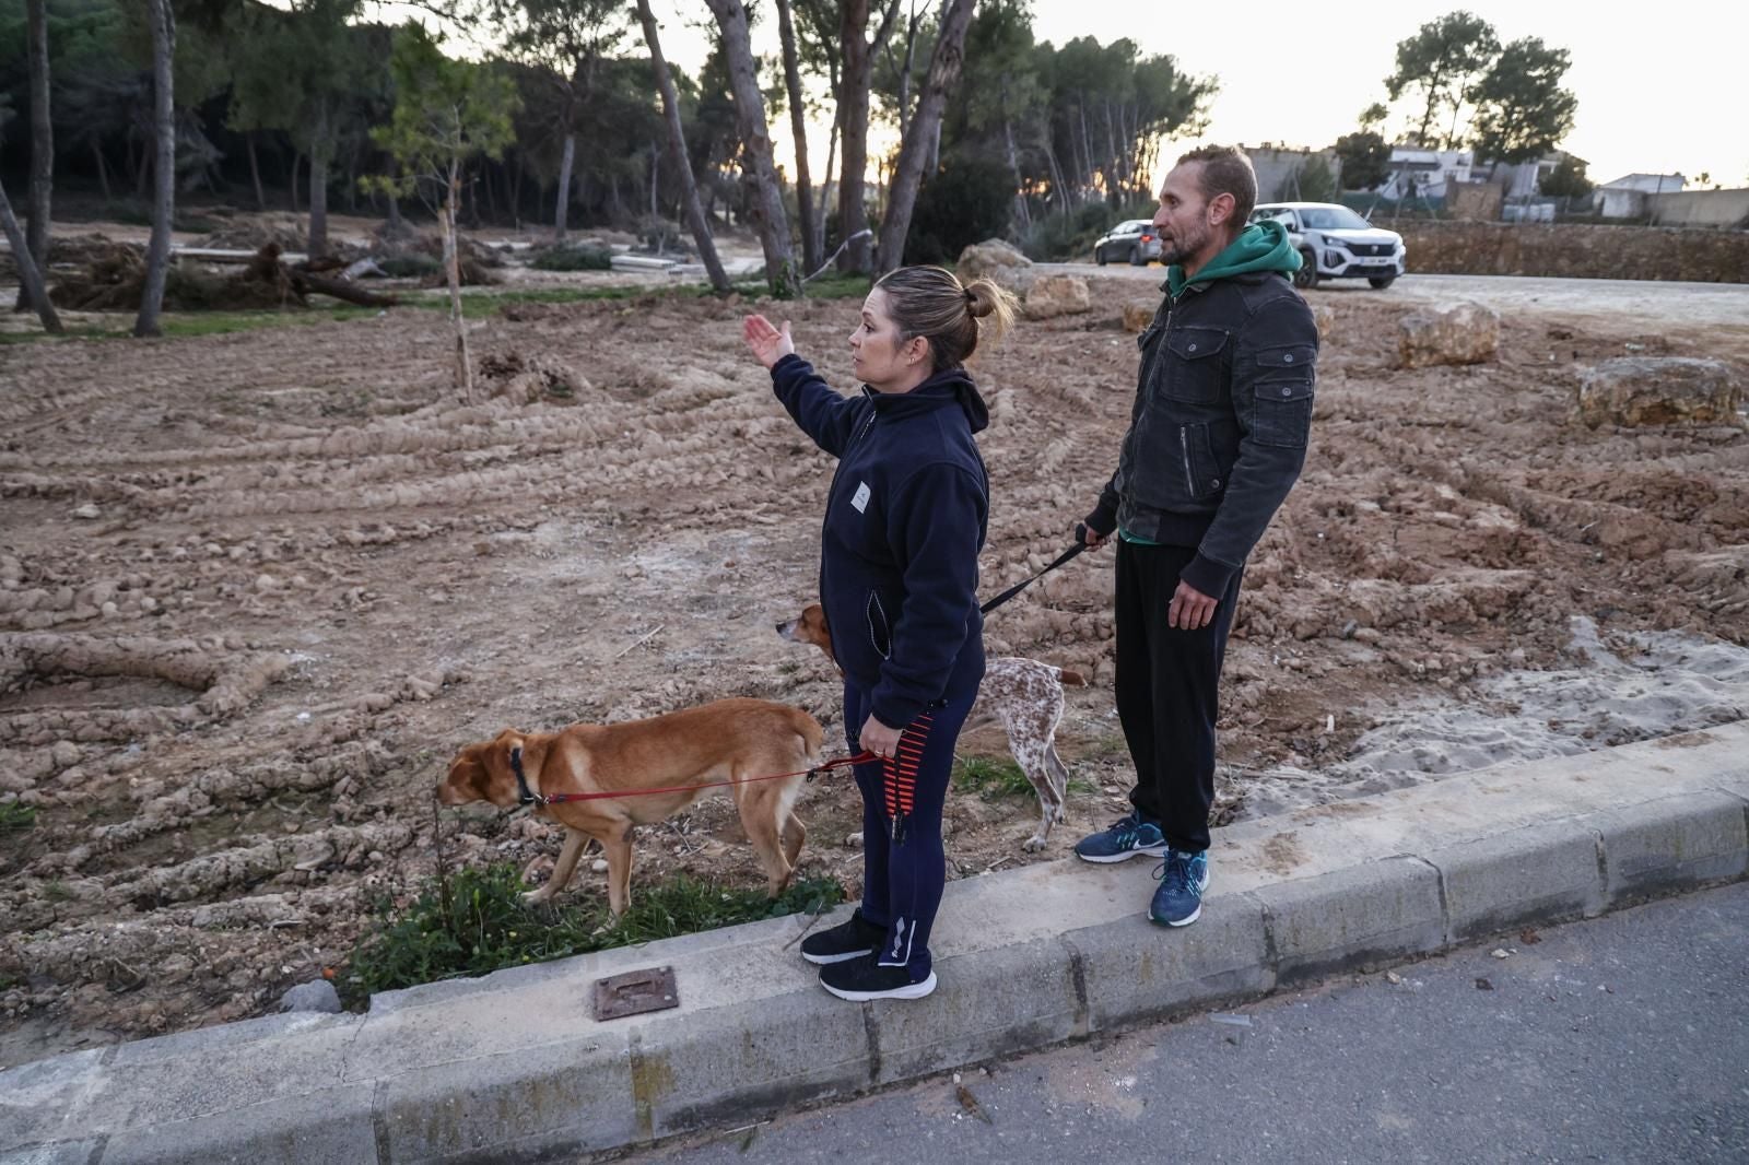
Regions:
<instances>
[{"instance_id":1,"label":"woman in navy tracksuit with hair bun and raised hand","mask_svg":"<svg viewBox=\"0 0 1749 1165\"><path fill-rule=\"evenodd\" d=\"M946 861L941 810L953 745L983 679L978 551L990 481L972 434L990 423L965 360L1014 318L1014 297L943 268L901 268L850 332L862 394L833 392L796 355L789 322L745 320L747 346L796 423L838 458L820 530L820 605L845 675L859 764L862 903L803 939L840 999L936 988L930 927Z\"/></svg>"}]
</instances>

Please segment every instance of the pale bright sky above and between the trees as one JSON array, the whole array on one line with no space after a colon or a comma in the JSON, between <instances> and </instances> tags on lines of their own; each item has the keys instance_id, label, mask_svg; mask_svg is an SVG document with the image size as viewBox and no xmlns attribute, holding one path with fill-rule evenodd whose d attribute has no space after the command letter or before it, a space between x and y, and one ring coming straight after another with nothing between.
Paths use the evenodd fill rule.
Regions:
<instances>
[{"instance_id":1,"label":"pale bright sky above and between the trees","mask_svg":"<svg viewBox=\"0 0 1749 1165\"><path fill-rule=\"evenodd\" d=\"M754 49L775 54L775 5L759 3L766 19L756 28ZM705 2L652 5L663 51L675 65L696 70L708 51ZM1383 100L1382 80L1396 63L1397 40L1460 5L1034 0L1032 24L1039 40L1055 44L1084 35L1102 44L1130 37L1144 52L1170 52L1186 72L1217 77L1221 93L1210 105L1207 140L1322 147L1352 131L1361 108ZM1744 0L1476 0L1462 7L1492 23L1502 42L1541 37L1572 54L1567 87L1578 94L1579 112L1562 145L1590 163L1593 180L1681 171L1693 182L1709 171L1716 184L1749 185ZM819 168L826 129L813 136ZM773 138L784 161L789 135Z\"/></svg>"}]
</instances>

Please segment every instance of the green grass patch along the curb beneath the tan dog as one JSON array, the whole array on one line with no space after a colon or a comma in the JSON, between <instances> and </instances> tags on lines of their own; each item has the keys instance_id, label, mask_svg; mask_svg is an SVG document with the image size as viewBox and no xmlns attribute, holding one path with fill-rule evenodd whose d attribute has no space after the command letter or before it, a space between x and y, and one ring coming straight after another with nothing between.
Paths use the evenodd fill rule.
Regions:
<instances>
[{"instance_id":1,"label":"green grass patch along the curb beneath the tan dog","mask_svg":"<svg viewBox=\"0 0 1749 1165\"><path fill-rule=\"evenodd\" d=\"M712 931L740 922L819 911L843 901L831 878L805 878L771 901L761 890L729 889L686 875L640 885L616 924L605 899L574 906L528 906L528 887L500 862L427 880L406 906L378 903L339 983L352 1002L374 992L470 978L530 962L610 946Z\"/></svg>"}]
</instances>

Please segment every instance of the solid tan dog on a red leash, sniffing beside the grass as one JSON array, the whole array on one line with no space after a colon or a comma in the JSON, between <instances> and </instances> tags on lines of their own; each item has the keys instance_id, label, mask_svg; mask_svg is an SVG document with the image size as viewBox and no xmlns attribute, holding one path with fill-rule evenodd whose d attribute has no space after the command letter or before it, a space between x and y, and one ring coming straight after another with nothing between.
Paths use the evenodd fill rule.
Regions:
<instances>
[{"instance_id":1,"label":"solid tan dog on a red leash, sniffing beside the grass","mask_svg":"<svg viewBox=\"0 0 1749 1165\"><path fill-rule=\"evenodd\" d=\"M759 854L771 897L777 897L789 887L808 836L794 803L806 770L819 759L822 735L819 722L801 708L766 700L717 700L647 721L572 724L556 733L505 728L493 740L462 749L449 763L449 775L437 784L437 799L514 808L521 801L516 764L537 798L624 792L623 798L535 803L537 815L565 826L565 848L547 883L523 896L544 903L563 890L584 845L595 838L607 855L607 906L617 918L631 901L631 827L672 817L705 792L638 791L745 782L729 785L729 792L747 840ZM749 780L777 773L794 775Z\"/></svg>"}]
</instances>

